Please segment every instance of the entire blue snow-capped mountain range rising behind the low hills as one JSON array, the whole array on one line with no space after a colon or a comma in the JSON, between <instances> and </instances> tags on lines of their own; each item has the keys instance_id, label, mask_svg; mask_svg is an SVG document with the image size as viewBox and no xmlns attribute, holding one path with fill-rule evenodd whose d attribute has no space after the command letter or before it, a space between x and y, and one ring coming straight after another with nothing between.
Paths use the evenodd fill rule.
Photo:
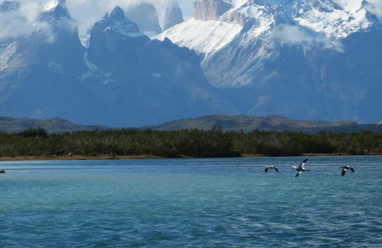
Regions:
<instances>
[{"instance_id":1,"label":"entire blue snow-capped mountain range rising behind the low hills","mask_svg":"<svg viewBox=\"0 0 382 248\"><path fill-rule=\"evenodd\" d=\"M20 6L3 1L0 15ZM34 23L19 20L28 32L0 36L0 115L124 127L218 113L375 122L382 28L372 8L198 0L194 18L157 40L116 7L84 47L65 1L52 1Z\"/></svg>"}]
</instances>

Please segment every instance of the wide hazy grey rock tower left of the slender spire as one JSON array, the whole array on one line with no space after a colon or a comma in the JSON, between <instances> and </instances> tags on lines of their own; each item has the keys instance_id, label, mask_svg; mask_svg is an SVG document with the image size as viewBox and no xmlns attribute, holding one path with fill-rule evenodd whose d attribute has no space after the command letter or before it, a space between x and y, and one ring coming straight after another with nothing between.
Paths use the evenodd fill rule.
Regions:
<instances>
[{"instance_id":1,"label":"wide hazy grey rock tower left of the slender spire","mask_svg":"<svg viewBox=\"0 0 382 248\"><path fill-rule=\"evenodd\" d=\"M160 34L158 14L154 5L139 3L125 10L126 18L135 22L138 28L148 36Z\"/></svg>"}]
</instances>

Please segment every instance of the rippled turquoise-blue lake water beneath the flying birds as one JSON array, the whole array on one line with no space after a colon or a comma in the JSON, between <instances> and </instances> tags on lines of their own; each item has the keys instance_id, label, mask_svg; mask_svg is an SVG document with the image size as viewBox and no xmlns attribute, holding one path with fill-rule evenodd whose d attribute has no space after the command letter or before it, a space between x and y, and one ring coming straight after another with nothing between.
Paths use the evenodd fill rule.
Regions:
<instances>
[{"instance_id":1,"label":"rippled turquoise-blue lake water beneath the flying birds","mask_svg":"<svg viewBox=\"0 0 382 248\"><path fill-rule=\"evenodd\" d=\"M382 157L302 159L1 162L0 246L382 246Z\"/></svg>"}]
</instances>

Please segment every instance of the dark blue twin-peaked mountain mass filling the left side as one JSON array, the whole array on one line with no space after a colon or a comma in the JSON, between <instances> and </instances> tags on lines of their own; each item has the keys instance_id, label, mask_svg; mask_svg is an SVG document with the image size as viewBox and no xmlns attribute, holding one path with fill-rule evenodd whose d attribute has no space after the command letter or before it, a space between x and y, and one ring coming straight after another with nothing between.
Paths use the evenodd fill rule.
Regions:
<instances>
[{"instance_id":1,"label":"dark blue twin-peaked mountain mass filling the left side","mask_svg":"<svg viewBox=\"0 0 382 248\"><path fill-rule=\"evenodd\" d=\"M119 7L93 24L88 48L63 0L35 26L0 51L0 115L132 127L234 111L195 52L151 40Z\"/></svg>"}]
</instances>

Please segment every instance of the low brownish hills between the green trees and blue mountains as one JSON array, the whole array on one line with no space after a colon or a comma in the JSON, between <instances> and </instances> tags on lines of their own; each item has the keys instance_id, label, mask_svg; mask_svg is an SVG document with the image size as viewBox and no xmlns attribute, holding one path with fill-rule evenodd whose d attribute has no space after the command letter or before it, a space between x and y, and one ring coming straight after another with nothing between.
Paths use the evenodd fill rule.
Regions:
<instances>
[{"instance_id":1,"label":"low brownish hills between the green trees and blue mountains","mask_svg":"<svg viewBox=\"0 0 382 248\"><path fill-rule=\"evenodd\" d=\"M197 118L178 119L160 125L140 127L140 130L152 129L163 131L176 131L181 129L209 130L212 126L222 127L224 131L234 130L244 132L260 131L295 131L305 133L327 132L358 132L369 130L382 132L382 120L374 124L358 124L351 120L344 121L318 121L295 120L280 115L246 116L246 115L206 115ZM31 119L0 116L0 132L13 133L30 128L43 128L47 133L76 132L82 130L116 129L102 125L77 125L63 118ZM125 127L130 128L130 127Z\"/></svg>"}]
</instances>

